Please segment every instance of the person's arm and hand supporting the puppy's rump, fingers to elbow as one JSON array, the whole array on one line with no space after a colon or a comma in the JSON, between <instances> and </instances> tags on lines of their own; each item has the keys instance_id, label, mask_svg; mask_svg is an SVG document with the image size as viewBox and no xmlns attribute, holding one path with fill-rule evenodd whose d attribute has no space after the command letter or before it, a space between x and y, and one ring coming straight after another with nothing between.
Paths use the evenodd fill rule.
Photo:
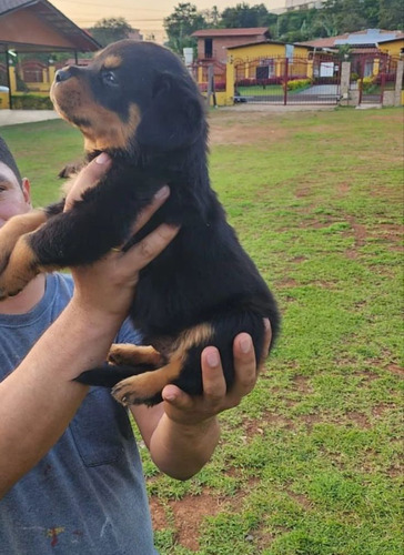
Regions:
<instances>
[{"instance_id":1,"label":"person's arm and hand supporting the puppy's rump, fingers to elbow","mask_svg":"<svg viewBox=\"0 0 404 555\"><path fill-rule=\"evenodd\" d=\"M265 329L266 349L271 342L271 326L266 320ZM220 353L209 346L201 360L202 396L191 397L179 387L168 385L163 390L163 403L152 408L132 407L152 460L171 477L188 480L204 466L220 438L218 414L239 405L254 387L256 366L262 366L263 361L255 361L249 334L241 333L234 339L233 353L235 383L229 393Z\"/></svg>"}]
</instances>

